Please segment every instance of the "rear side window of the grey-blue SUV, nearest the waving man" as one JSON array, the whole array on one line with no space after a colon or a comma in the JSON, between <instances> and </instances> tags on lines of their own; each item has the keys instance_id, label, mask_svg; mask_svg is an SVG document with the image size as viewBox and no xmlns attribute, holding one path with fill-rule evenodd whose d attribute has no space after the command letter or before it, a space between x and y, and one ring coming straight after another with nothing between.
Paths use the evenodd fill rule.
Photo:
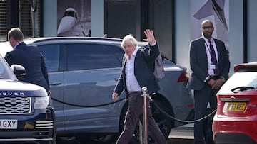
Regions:
<instances>
[{"instance_id":1,"label":"rear side window of the grey-blue SUV, nearest the waving man","mask_svg":"<svg viewBox=\"0 0 257 144\"><path fill-rule=\"evenodd\" d=\"M124 51L111 45L66 45L67 69L89 70L121 67Z\"/></svg>"}]
</instances>

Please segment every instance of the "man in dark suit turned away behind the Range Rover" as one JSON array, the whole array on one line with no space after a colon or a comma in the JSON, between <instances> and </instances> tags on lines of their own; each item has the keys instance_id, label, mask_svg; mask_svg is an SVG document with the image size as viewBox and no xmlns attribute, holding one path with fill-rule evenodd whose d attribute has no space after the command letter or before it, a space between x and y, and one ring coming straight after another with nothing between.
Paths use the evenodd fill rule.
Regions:
<instances>
[{"instance_id":1,"label":"man in dark suit turned away behind the Range Rover","mask_svg":"<svg viewBox=\"0 0 257 144\"><path fill-rule=\"evenodd\" d=\"M24 66L26 75L20 80L44 87L49 92L46 65L39 48L36 45L26 45L23 41L24 35L19 28L11 28L8 38L14 50L6 53L6 62L10 66L13 64Z\"/></svg>"}]
</instances>

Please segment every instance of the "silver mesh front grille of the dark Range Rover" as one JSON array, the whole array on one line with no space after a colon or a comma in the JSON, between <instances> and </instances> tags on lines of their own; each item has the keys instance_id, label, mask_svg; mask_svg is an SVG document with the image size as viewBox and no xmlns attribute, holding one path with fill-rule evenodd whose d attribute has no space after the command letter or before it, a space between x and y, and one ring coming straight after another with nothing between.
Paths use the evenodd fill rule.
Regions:
<instances>
[{"instance_id":1,"label":"silver mesh front grille of the dark Range Rover","mask_svg":"<svg viewBox=\"0 0 257 144\"><path fill-rule=\"evenodd\" d=\"M0 97L0 114L31 113L30 97Z\"/></svg>"}]
</instances>

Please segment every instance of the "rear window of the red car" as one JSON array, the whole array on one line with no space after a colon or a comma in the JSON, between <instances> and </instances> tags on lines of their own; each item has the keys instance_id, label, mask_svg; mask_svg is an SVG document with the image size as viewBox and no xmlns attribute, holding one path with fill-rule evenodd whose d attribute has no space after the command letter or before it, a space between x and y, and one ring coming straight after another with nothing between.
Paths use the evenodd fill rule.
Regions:
<instances>
[{"instance_id":1,"label":"rear window of the red car","mask_svg":"<svg viewBox=\"0 0 257 144\"><path fill-rule=\"evenodd\" d=\"M237 87L257 88L257 72L236 72L221 87L221 91L235 89Z\"/></svg>"}]
</instances>

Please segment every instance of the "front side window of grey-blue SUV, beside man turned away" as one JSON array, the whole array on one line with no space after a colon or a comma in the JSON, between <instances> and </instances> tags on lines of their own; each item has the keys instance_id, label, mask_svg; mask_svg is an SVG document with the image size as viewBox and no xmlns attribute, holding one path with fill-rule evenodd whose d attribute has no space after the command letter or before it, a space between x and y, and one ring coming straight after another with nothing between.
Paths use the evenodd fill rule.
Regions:
<instances>
[{"instance_id":1,"label":"front side window of grey-blue SUV, beside man turned away","mask_svg":"<svg viewBox=\"0 0 257 144\"><path fill-rule=\"evenodd\" d=\"M59 45L39 45L44 56L48 72L56 72L59 68Z\"/></svg>"}]
</instances>

